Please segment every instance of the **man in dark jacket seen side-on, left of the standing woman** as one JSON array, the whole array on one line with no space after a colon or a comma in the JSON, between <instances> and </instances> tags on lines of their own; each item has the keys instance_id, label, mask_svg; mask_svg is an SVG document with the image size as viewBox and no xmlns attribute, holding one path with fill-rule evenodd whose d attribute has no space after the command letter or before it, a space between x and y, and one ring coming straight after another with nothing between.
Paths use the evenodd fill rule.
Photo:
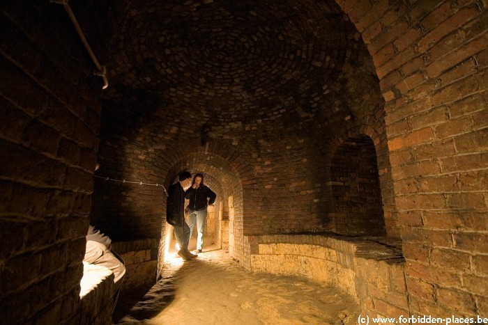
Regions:
<instances>
[{"instance_id":1,"label":"man in dark jacket seen side-on, left of the standing woman","mask_svg":"<svg viewBox=\"0 0 488 325\"><path fill-rule=\"evenodd\" d=\"M178 175L178 182L172 184L168 189L168 202L166 205L166 221L174 228L176 241L180 246L178 255L188 261L197 255L188 251L190 241L190 228L185 222L185 190L192 180L192 174L183 171Z\"/></svg>"}]
</instances>

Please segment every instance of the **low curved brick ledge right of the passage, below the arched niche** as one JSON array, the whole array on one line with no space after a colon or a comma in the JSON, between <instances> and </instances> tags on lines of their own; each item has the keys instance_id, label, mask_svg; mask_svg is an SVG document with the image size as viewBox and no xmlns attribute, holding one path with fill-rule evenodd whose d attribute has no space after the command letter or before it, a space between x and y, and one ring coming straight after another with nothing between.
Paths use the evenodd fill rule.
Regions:
<instances>
[{"instance_id":1,"label":"low curved brick ledge right of the passage, below the arched niche","mask_svg":"<svg viewBox=\"0 0 488 325\"><path fill-rule=\"evenodd\" d=\"M370 317L409 315L401 243L385 237L252 236L251 269L339 287Z\"/></svg>"}]
</instances>

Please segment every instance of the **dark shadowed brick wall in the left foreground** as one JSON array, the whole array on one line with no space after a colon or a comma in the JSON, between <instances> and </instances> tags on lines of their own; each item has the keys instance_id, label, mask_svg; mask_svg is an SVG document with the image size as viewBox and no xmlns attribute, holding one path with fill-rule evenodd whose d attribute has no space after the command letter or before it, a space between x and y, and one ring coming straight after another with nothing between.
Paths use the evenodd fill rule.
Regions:
<instances>
[{"instance_id":1,"label":"dark shadowed brick wall in the left foreground","mask_svg":"<svg viewBox=\"0 0 488 325\"><path fill-rule=\"evenodd\" d=\"M0 7L0 318L74 324L102 84L61 6Z\"/></svg>"}]
</instances>

